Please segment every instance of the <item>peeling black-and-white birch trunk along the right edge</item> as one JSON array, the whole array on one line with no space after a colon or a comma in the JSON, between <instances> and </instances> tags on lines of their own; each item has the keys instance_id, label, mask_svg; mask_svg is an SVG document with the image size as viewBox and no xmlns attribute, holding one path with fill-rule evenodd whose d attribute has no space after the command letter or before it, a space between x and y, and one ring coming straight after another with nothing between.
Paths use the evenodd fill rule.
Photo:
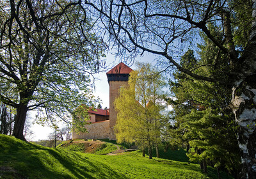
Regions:
<instances>
[{"instance_id":1,"label":"peeling black-and-white birch trunk along the right edge","mask_svg":"<svg viewBox=\"0 0 256 179\"><path fill-rule=\"evenodd\" d=\"M232 108L238 128L242 170L240 178L256 178L256 0L252 6L252 30L236 70Z\"/></svg>"}]
</instances>

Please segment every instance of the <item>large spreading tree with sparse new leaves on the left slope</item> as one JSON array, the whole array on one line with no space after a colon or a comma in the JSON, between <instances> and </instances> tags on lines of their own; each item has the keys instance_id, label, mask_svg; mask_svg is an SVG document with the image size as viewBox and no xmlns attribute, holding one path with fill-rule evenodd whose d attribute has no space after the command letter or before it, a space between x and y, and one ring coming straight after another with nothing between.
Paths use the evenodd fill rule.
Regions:
<instances>
[{"instance_id":1,"label":"large spreading tree with sparse new leaves on the left slope","mask_svg":"<svg viewBox=\"0 0 256 179\"><path fill-rule=\"evenodd\" d=\"M105 44L80 1L4 0L0 7L0 100L17 109L13 136L24 139L28 110L54 123L93 103L89 75L102 65Z\"/></svg>"}]
</instances>

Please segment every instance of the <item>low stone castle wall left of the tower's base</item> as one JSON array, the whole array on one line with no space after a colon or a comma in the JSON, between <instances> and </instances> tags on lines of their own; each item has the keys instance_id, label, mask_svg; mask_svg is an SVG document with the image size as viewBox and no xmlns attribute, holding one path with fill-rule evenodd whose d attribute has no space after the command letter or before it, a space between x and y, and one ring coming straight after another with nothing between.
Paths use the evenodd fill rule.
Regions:
<instances>
[{"instance_id":1,"label":"low stone castle wall left of the tower's base","mask_svg":"<svg viewBox=\"0 0 256 179\"><path fill-rule=\"evenodd\" d=\"M72 139L108 139L109 138L109 120L99 121L85 126L88 133L73 132Z\"/></svg>"}]
</instances>

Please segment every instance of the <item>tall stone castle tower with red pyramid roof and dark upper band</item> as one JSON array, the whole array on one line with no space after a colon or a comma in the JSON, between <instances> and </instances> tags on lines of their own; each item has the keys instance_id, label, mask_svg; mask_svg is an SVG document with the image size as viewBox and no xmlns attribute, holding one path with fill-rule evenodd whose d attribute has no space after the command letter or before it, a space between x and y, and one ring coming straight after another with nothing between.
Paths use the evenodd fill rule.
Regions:
<instances>
[{"instance_id":1,"label":"tall stone castle tower with red pyramid roof and dark upper band","mask_svg":"<svg viewBox=\"0 0 256 179\"><path fill-rule=\"evenodd\" d=\"M128 84L132 69L124 63L119 63L107 73L109 83L109 139L115 140L114 127L116 124L116 111L114 101L119 95L119 89Z\"/></svg>"}]
</instances>

